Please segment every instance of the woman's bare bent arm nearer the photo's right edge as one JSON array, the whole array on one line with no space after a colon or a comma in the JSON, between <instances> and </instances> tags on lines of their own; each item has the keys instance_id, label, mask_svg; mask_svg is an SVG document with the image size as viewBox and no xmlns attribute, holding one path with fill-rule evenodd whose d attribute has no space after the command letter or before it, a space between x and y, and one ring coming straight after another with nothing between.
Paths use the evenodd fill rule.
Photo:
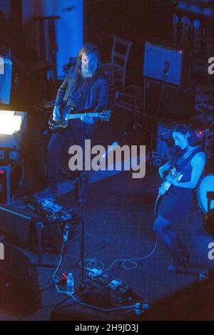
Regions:
<instances>
[{"instance_id":1,"label":"woman's bare bent arm nearer the photo's right edge","mask_svg":"<svg viewBox=\"0 0 214 335\"><path fill-rule=\"evenodd\" d=\"M176 182L171 178L169 178L168 181L172 185L177 187L192 188L192 189L195 188L195 186L198 184L198 180L200 179L200 175L202 174L203 168L205 166L205 154L196 153L191 160L191 165L193 166L193 170L189 182Z\"/></svg>"}]
</instances>

